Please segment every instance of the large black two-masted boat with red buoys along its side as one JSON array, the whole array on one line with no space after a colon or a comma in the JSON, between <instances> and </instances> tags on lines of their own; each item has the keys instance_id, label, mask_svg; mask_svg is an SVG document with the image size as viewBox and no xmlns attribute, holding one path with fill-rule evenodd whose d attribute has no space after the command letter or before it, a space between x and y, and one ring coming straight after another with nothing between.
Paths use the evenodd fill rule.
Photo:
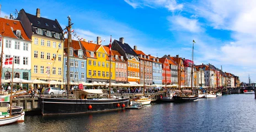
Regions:
<instances>
[{"instance_id":1,"label":"large black two-masted boat with red buoys along its side","mask_svg":"<svg viewBox=\"0 0 256 132\"><path fill-rule=\"evenodd\" d=\"M70 42L71 42L71 18L68 17L68 26L66 27L68 34L68 45L67 54L70 52ZM111 46L111 36L109 47ZM109 61L111 64L111 49L109 53ZM70 63L70 57L67 56L67 63ZM110 70L111 67L109 67ZM67 65L67 73L70 70L70 65ZM125 108L129 105L129 97L114 97L111 96L111 76L109 76L109 98L102 98L103 92L100 89L86 90L82 87L80 89L74 90L75 98L70 98L70 74L67 74L67 98L51 98L51 97L39 97L39 106L41 109L41 114L79 114L79 113L91 113L91 112L103 112L103 111L114 111L118 109ZM82 85L82 84L79 84ZM97 98L87 98L88 94L101 95Z\"/></svg>"}]
</instances>

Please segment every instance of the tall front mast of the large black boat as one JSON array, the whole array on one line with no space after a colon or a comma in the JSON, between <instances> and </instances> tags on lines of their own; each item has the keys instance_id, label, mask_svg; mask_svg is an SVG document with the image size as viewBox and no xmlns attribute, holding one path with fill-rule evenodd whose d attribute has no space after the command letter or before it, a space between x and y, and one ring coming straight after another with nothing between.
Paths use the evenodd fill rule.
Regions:
<instances>
[{"instance_id":1,"label":"tall front mast of the large black boat","mask_svg":"<svg viewBox=\"0 0 256 132\"><path fill-rule=\"evenodd\" d=\"M68 18L68 37L67 37L67 98L70 98L70 43L71 43L71 18L70 16Z\"/></svg>"}]
</instances>

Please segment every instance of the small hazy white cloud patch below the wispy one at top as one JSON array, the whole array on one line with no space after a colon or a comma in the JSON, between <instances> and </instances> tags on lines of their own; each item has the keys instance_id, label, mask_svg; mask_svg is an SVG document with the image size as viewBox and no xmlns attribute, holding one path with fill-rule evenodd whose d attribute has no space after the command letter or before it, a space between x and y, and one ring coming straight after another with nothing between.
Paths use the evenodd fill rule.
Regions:
<instances>
[{"instance_id":1,"label":"small hazy white cloud patch below the wispy one at top","mask_svg":"<svg viewBox=\"0 0 256 132\"><path fill-rule=\"evenodd\" d=\"M196 19L189 19L182 16L168 17L170 23L172 23L171 30L185 30L190 32L201 32L202 28L200 23Z\"/></svg>"}]
</instances>

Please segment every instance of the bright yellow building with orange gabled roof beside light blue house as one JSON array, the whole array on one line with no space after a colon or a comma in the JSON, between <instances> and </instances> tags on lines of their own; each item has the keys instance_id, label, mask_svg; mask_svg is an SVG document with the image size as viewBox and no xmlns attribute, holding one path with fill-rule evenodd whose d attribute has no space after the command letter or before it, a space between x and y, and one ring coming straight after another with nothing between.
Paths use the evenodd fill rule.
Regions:
<instances>
[{"instance_id":1,"label":"bright yellow building with orange gabled roof beside light blue house","mask_svg":"<svg viewBox=\"0 0 256 132\"><path fill-rule=\"evenodd\" d=\"M108 83L111 75L111 82L115 82L115 59L111 53L111 65L109 64L109 47L99 44L80 41L87 56L87 80L89 83L97 81ZM111 67L111 73L109 73Z\"/></svg>"}]
</instances>

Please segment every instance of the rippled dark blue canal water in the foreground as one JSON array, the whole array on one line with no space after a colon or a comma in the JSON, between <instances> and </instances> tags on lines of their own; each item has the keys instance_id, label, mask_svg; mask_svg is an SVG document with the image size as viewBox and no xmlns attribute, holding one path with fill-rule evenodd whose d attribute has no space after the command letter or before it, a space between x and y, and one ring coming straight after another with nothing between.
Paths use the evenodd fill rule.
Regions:
<instances>
[{"instance_id":1,"label":"rippled dark blue canal water in the foreground","mask_svg":"<svg viewBox=\"0 0 256 132\"><path fill-rule=\"evenodd\" d=\"M254 93L254 92L253 92ZM0 131L256 131L254 94L70 116L26 116Z\"/></svg>"}]
</instances>

